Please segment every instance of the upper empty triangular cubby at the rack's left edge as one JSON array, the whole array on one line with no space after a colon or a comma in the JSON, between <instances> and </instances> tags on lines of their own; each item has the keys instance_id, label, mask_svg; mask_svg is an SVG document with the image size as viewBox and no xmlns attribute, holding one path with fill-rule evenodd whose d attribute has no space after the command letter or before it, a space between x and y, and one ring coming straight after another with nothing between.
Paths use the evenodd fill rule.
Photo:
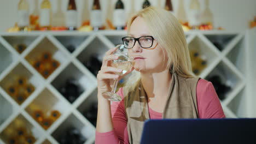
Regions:
<instances>
[{"instance_id":1,"label":"upper empty triangular cubby at the rack's left edge","mask_svg":"<svg viewBox=\"0 0 256 144\"><path fill-rule=\"evenodd\" d=\"M17 58L0 43L0 76Z\"/></svg>"}]
</instances>

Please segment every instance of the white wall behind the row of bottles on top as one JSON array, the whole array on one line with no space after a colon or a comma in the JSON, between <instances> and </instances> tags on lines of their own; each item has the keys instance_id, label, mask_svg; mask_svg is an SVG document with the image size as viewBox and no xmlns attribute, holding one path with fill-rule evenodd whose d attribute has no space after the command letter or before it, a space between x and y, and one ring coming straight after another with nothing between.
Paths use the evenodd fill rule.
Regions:
<instances>
[{"instance_id":1,"label":"white wall behind the row of bottles on top","mask_svg":"<svg viewBox=\"0 0 256 144\"><path fill-rule=\"evenodd\" d=\"M31 11L33 10L33 0L27 0L31 4ZM42 0L40 0L42 1ZM56 0L50 0L53 4L53 9L56 9ZM63 9L68 0L63 0ZM78 10L83 8L83 2L85 0L76 0L78 5ZM91 4L92 0L89 0ZM106 11L107 2L112 1L115 3L117 0L101 0L101 7ZM141 8L144 0L133 0L135 1L135 9ZM152 5L163 5L165 0L149 0ZM179 0L172 0L174 5L174 12L178 6ZM185 9L188 9L188 4L191 0L184 0ZM204 9L205 0L199 0L202 10ZM7 28L14 26L17 20L16 9L19 0L0 0L0 32L4 32ZM125 3L126 11L130 10L130 0L123 0ZM256 16L256 0L210 0L210 8L214 14L214 26L221 26L227 30L243 31L248 28L249 20ZM89 5L90 7L90 5ZM105 13L106 14L106 13Z\"/></svg>"}]
</instances>

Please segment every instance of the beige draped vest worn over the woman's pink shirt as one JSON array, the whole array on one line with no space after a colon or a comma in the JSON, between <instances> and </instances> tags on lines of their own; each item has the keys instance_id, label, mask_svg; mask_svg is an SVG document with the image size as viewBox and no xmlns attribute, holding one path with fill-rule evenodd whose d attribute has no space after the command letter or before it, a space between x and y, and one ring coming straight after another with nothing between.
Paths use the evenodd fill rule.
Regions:
<instances>
[{"instance_id":1,"label":"beige draped vest worn over the woman's pink shirt","mask_svg":"<svg viewBox=\"0 0 256 144\"><path fill-rule=\"evenodd\" d=\"M184 78L172 74L172 81L162 118L198 118L196 85L199 78ZM143 124L149 118L147 95L141 82L124 98L127 131L131 144L141 140ZM164 103L163 103L164 104Z\"/></svg>"}]
</instances>

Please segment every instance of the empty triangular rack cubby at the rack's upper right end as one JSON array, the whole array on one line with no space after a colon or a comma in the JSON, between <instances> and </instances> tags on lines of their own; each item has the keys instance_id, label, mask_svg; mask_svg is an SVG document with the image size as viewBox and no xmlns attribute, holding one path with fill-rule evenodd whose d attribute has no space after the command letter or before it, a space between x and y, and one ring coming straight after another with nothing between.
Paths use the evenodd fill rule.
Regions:
<instances>
[{"instance_id":1,"label":"empty triangular rack cubby at the rack's upper right end","mask_svg":"<svg viewBox=\"0 0 256 144\"><path fill-rule=\"evenodd\" d=\"M245 55L245 39L242 38L238 43L228 52L226 57L240 70L241 73L246 73L246 55Z\"/></svg>"}]
</instances>

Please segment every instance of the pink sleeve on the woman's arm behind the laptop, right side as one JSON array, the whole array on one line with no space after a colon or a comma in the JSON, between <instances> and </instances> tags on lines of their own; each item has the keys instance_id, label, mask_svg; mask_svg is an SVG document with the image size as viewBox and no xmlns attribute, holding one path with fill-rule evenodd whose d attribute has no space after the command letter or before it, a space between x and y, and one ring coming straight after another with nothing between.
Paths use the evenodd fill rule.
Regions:
<instances>
[{"instance_id":1,"label":"pink sleeve on the woman's arm behind the laptop, right side","mask_svg":"<svg viewBox=\"0 0 256 144\"><path fill-rule=\"evenodd\" d=\"M196 95L200 118L225 118L212 82L200 79L196 86Z\"/></svg>"}]
</instances>

